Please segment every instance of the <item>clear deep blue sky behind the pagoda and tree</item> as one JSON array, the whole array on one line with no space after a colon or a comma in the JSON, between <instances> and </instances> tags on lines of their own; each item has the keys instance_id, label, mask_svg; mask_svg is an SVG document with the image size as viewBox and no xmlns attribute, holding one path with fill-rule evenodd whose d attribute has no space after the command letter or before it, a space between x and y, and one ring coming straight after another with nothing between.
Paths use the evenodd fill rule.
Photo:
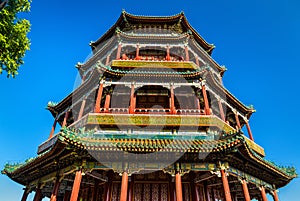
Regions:
<instances>
[{"instance_id":1,"label":"clear deep blue sky behind the pagoda and tree","mask_svg":"<svg viewBox=\"0 0 300 201\"><path fill-rule=\"evenodd\" d=\"M267 158L300 170L299 46L297 0L253 1L36 1L29 14L31 50L15 79L0 76L0 168L34 157L53 123L45 110L74 86L77 62L89 42L115 23L121 10L139 15L185 12L191 25L216 49L228 69L224 85L257 112L250 124ZM281 200L299 200L300 181L280 189ZM20 200L22 187L0 175L1 200ZM28 199L29 200L29 199ZM272 199L269 199L272 200Z\"/></svg>"}]
</instances>

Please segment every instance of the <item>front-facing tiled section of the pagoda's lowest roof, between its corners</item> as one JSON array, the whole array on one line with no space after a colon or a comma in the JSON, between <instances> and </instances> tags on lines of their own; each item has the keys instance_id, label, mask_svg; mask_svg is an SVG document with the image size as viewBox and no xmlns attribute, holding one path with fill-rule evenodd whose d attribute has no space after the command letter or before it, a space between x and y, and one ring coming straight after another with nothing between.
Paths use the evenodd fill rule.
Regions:
<instances>
[{"instance_id":1,"label":"front-facing tiled section of the pagoda's lowest roof, between its corners","mask_svg":"<svg viewBox=\"0 0 300 201\"><path fill-rule=\"evenodd\" d=\"M66 142L88 151L125 151L134 153L182 152L216 153L228 151L239 146L241 139L219 141L179 140L179 139L68 139Z\"/></svg>"}]
</instances>

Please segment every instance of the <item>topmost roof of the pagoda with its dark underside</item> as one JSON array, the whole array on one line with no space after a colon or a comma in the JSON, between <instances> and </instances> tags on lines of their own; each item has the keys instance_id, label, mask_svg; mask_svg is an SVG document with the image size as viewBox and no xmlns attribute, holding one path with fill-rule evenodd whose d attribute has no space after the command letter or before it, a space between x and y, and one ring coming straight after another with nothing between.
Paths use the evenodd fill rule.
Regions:
<instances>
[{"instance_id":1,"label":"topmost roof of the pagoda with its dark underside","mask_svg":"<svg viewBox=\"0 0 300 201\"><path fill-rule=\"evenodd\" d=\"M194 39L199 43L199 45L208 53L211 54L215 46L213 44L209 44L204 40L202 36L200 36L197 31L190 25L187 21L183 12L173 15L173 16L140 16L140 15L132 15L127 13L125 10L122 11L117 22L97 41L91 42L91 47L94 50L97 45L101 44L105 40L111 38L117 29L121 31L124 28L129 28L130 25L138 25L138 24L157 24L157 25L180 25L184 32L190 33Z\"/></svg>"}]
</instances>

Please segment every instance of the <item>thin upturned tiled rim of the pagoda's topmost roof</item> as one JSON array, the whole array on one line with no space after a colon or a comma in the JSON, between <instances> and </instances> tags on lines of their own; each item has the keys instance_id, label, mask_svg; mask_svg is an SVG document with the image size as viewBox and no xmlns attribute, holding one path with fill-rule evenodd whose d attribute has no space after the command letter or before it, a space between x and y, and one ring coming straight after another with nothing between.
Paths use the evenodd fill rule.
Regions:
<instances>
[{"instance_id":1,"label":"thin upturned tiled rim of the pagoda's topmost roof","mask_svg":"<svg viewBox=\"0 0 300 201\"><path fill-rule=\"evenodd\" d=\"M125 19L126 18L126 19ZM142 23L175 23L178 22L182 18L182 25L192 31L195 40L199 43L199 45L208 53L211 54L215 46L213 44L207 43L202 36L198 34L198 32L189 24L185 15L183 13L179 13L173 16L138 16L132 15L125 11L123 11L116 21L116 23L108 29L108 31L103 34L99 39L95 42L91 43L92 49L98 46L101 42L108 40L115 34L115 30L117 27L120 27L122 23L126 23L125 20L129 23L131 22L142 22Z\"/></svg>"}]
</instances>

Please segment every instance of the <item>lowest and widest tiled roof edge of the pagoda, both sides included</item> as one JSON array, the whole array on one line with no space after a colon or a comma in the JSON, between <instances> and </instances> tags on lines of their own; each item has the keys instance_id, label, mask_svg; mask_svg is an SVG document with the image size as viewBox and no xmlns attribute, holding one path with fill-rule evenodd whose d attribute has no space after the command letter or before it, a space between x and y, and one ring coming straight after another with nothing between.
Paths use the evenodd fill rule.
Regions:
<instances>
[{"instance_id":1,"label":"lowest and widest tiled roof edge of the pagoda, both sides included","mask_svg":"<svg viewBox=\"0 0 300 201\"><path fill-rule=\"evenodd\" d=\"M230 154L233 150L239 150L239 153L247 160L252 161L253 164L263 166L268 174L277 175L276 178L280 178L280 181L275 182L277 188L287 185L296 177L296 175L288 175L275 166L275 164L270 164L262 157L258 157L249 151L241 134L229 135L220 140L118 139L116 137L98 139L89 138L86 134L85 136L81 134L75 135L75 133L67 132L67 130L62 130L58 135L58 141L49 151L37 156L35 159L21 165L13 171L6 171L4 169L2 173L17 183L26 185L25 180L22 180L22 175L26 175L26 173L35 171L39 169L39 167L48 164L49 161L62 153L63 148L68 147L68 149L77 151L99 151L99 153L105 153L107 151L116 153L131 152L139 154L151 152ZM168 147L168 144L172 143L174 145Z\"/></svg>"}]
</instances>

